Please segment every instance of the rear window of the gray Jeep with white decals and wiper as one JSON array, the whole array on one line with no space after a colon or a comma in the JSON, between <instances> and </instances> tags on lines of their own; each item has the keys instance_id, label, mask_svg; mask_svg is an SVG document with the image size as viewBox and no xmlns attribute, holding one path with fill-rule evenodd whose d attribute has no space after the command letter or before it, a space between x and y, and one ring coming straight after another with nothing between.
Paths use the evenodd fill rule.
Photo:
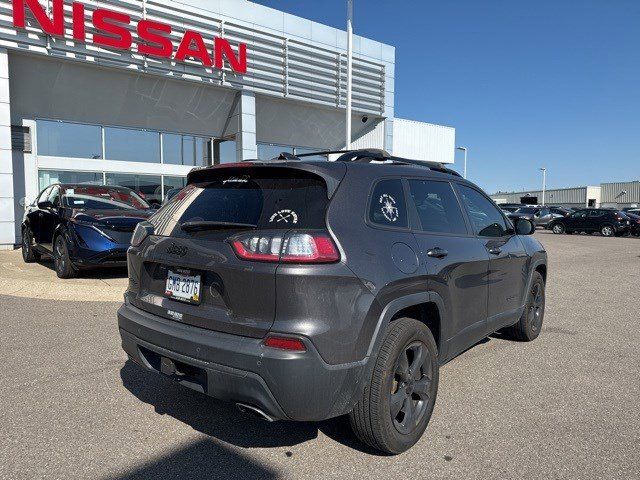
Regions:
<instances>
[{"instance_id":1,"label":"rear window of the gray Jeep with white decals and wiper","mask_svg":"<svg viewBox=\"0 0 640 480\"><path fill-rule=\"evenodd\" d=\"M159 222L156 233L170 235L185 222L237 223L283 230L326 228L328 200L324 180L297 170L274 170L221 175L210 182L187 185L154 217Z\"/></svg>"}]
</instances>

